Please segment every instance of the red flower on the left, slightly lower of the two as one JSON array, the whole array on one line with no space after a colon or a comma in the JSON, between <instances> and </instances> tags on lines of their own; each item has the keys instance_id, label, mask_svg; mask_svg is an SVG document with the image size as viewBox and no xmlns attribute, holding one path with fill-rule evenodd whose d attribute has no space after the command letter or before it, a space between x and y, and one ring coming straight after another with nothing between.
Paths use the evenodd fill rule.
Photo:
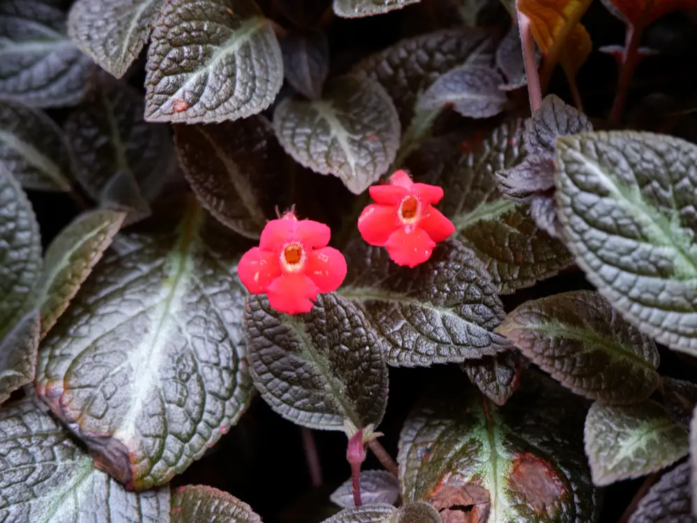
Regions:
<instances>
[{"instance_id":1,"label":"red flower on the left, slightly lower of the two","mask_svg":"<svg viewBox=\"0 0 697 523\"><path fill-rule=\"evenodd\" d=\"M237 272L249 292L268 295L282 313L307 313L319 292L337 290L346 277L346 259L329 243L331 231L319 221L298 221L293 212L266 224L259 247L245 253Z\"/></svg>"}]
</instances>

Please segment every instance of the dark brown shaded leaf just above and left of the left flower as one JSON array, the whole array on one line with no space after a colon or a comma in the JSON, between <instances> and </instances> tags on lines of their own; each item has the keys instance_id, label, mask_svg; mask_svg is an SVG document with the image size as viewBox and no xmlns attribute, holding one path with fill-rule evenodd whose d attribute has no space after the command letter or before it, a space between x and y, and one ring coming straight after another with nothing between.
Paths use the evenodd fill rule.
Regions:
<instances>
[{"instance_id":1,"label":"dark brown shaded leaf just above and left of the left flower","mask_svg":"<svg viewBox=\"0 0 697 523\"><path fill-rule=\"evenodd\" d=\"M286 155L261 115L217 125L176 125L176 148L201 205L236 233L258 238L286 208Z\"/></svg>"}]
</instances>

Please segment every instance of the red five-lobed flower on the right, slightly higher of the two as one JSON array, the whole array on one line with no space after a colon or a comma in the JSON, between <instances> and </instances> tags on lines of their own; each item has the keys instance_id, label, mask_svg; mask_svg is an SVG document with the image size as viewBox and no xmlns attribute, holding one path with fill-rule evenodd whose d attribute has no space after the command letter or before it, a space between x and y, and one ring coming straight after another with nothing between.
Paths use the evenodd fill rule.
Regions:
<instances>
[{"instance_id":1,"label":"red five-lobed flower on the right, slightly higher of the two","mask_svg":"<svg viewBox=\"0 0 697 523\"><path fill-rule=\"evenodd\" d=\"M415 267L431 257L437 242L455 232L452 221L431 207L443 198L443 189L414 183L406 171L397 171L390 185L373 185L368 205L358 218L358 231L371 245L387 247L397 265Z\"/></svg>"}]
</instances>

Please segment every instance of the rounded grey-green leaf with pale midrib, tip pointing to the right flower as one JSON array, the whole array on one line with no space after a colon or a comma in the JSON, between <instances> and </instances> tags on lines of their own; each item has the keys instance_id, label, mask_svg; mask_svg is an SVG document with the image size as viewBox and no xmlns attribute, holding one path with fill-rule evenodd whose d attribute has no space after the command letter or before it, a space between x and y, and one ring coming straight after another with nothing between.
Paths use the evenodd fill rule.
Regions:
<instances>
[{"instance_id":1,"label":"rounded grey-green leaf with pale midrib, tip pointing to the right flower","mask_svg":"<svg viewBox=\"0 0 697 523\"><path fill-rule=\"evenodd\" d=\"M279 142L296 162L340 178L360 194L395 160L401 127L392 100L376 81L347 75L321 100L286 98L273 114Z\"/></svg>"}]
</instances>

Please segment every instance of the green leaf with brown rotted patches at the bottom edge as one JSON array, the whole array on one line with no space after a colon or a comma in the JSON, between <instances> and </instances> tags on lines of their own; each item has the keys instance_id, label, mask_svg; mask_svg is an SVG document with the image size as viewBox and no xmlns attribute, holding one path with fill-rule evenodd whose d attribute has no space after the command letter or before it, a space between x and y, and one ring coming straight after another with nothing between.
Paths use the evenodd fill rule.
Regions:
<instances>
[{"instance_id":1,"label":"green leaf with brown rotted patches at the bottom edge","mask_svg":"<svg viewBox=\"0 0 697 523\"><path fill-rule=\"evenodd\" d=\"M405 502L426 501L451 522L597 521L579 400L528 383L496 407L459 382L434 385L399 439Z\"/></svg>"}]
</instances>

